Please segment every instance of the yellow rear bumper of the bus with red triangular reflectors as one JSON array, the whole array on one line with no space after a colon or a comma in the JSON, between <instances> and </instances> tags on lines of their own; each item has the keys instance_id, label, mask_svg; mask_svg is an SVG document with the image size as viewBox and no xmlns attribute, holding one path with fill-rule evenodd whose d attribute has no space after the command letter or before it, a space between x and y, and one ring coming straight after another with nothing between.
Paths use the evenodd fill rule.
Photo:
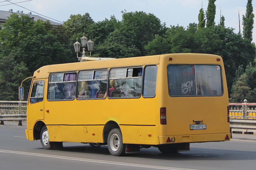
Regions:
<instances>
[{"instance_id":1,"label":"yellow rear bumper of the bus with red triangular reflectors","mask_svg":"<svg viewBox=\"0 0 256 170\"><path fill-rule=\"evenodd\" d=\"M227 137L228 136L228 137ZM158 136L159 144L229 141L230 133Z\"/></svg>"}]
</instances>

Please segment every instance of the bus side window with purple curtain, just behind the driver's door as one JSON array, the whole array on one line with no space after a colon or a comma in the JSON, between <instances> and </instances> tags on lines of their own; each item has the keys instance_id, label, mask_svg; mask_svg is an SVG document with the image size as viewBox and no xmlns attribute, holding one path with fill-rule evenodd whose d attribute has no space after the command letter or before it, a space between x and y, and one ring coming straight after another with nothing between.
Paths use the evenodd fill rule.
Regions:
<instances>
[{"instance_id":1,"label":"bus side window with purple curtain, just behind the driver's door","mask_svg":"<svg viewBox=\"0 0 256 170\"><path fill-rule=\"evenodd\" d=\"M51 74L48 100L73 100L76 93L76 73Z\"/></svg>"}]
</instances>

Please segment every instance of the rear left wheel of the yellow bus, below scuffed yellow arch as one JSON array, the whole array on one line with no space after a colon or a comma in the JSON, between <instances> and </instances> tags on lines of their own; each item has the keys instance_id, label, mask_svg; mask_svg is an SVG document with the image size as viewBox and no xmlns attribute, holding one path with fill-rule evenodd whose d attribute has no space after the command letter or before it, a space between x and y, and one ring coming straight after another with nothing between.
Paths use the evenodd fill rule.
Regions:
<instances>
[{"instance_id":1,"label":"rear left wheel of the yellow bus, below scuffed yellow arch","mask_svg":"<svg viewBox=\"0 0 256 170\"><path fill-rule=\"evenodd\" d=\"M123 144L123 137L120 129L112 129L108 135L108 149L113 156L123 156L126 144Z\"/></svg>"}]
</instances>

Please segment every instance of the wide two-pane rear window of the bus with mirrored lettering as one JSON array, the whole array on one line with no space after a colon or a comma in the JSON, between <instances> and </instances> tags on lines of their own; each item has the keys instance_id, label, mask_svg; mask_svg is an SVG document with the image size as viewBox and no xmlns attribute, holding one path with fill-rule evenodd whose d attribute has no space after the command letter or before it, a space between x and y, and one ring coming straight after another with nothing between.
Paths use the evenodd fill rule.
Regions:
<instances>
[{"instance_id":1,"label":"wide two-pane rear window of the bus with mirrored lettering","mask_svg":"<svg viewBox=\"0 0 256 170\"><path fill-rule=\"evenodd\" d=\"M219 65L168 65L170 96L221 96L223 94Z\"/></svg>"}]
</instances>

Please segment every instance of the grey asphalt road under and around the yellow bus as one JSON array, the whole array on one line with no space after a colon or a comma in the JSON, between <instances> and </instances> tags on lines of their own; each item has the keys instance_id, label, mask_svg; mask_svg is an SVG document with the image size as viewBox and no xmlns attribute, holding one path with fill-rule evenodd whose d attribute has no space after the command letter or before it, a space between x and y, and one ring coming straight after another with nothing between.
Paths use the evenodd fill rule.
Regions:
<instances>
[{"instance_id":1,"label":"grey asphalt road under and around the yellow bus","mask_svg":"<svg viewBox=\"0 0 256 170\"><path fill-rule=\"evenodd\" d=\"M255 169L256 135L233 134L231 141L190 144L190 151L165 155L157 148L123 157L108 148L63 143L62 150L44 150L25 137L26 122L0 125L0 169Z\"/></svg>"}]
</instances>

